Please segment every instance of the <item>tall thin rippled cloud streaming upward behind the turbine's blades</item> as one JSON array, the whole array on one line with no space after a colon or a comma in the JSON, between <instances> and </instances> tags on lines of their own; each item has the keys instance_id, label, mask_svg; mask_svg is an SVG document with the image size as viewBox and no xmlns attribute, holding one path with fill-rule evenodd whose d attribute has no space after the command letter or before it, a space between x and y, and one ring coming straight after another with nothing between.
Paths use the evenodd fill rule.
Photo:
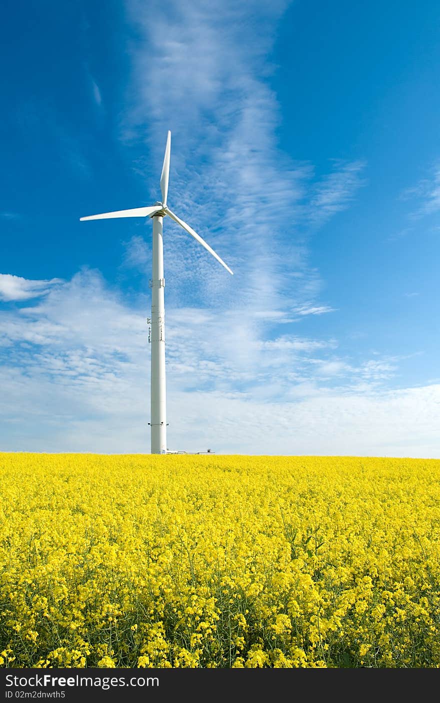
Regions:
<instances>
[{"instance_id":1,"label":"tall thin rippled cloud streaming upward behind the turbine's blades","mask_svg":"<svg viewBox=\"0 0 440 703\"><path fill-rule=\"evenodd\" d=\"M167 295L176 306L202 300L222 311L233 306L247 318L271 309L278 320L290 320L292 304L302 315L331 310L313 302L319 276L308 268L295 228L322 224L348 207L364 164L335 162L332 174L313 186L313 166L295 162L278 145L280 108L266 81L273 70L267 57L286 7L256 0L228 0L215 12L213 3L200 0L127 4L140 39L131 45L122 141L146 131L159 165L172 130L172 207L240 276L233 288L206 252L167 221L166 275L179 290ZM146 177L155 197L150 170ZM145 258L137 238L131 248L127 262ZM302 278L292 285L298 272Z\"/></svg>"}]
</instances>

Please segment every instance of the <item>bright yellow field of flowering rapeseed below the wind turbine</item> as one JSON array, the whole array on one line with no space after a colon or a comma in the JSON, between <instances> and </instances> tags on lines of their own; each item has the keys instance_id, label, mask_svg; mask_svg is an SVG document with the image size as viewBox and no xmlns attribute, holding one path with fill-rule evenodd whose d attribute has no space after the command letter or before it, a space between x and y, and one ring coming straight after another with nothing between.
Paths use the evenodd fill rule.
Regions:
<instances>
[{"instance_id":1,"label":"bright yellow field of flowering rapeseed below the wind turbine","mask_svg":"<svg viewBox=\"0 0 440 703\"><path fill-rule=\"evenodd\" d=\"M0 454L0 665L439 667L440 460Z\"/></svg>"}]
</instances>

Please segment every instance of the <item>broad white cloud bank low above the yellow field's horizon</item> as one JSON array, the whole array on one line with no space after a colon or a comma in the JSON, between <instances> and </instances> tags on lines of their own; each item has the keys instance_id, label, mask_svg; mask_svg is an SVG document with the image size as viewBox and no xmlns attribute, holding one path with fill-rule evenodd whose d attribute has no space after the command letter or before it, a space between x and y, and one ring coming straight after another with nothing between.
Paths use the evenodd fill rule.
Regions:
<instances>
[{"instance_id":1,"label":"broad white cloud bank low above the yellow field's horizon","mask_svg":"<svg viewBox=\"0 0 440 703\"><path fill-rule=\"evenodd\" d=\"M148 451L147 307L84 270L3 311L1 448ZM252 346L246 325L242 358L214 311L167 315L170 449L439 456L440 386L389 390L399 360L356 366L336 340L299 335Z\"/></svg>"}]
</instances>

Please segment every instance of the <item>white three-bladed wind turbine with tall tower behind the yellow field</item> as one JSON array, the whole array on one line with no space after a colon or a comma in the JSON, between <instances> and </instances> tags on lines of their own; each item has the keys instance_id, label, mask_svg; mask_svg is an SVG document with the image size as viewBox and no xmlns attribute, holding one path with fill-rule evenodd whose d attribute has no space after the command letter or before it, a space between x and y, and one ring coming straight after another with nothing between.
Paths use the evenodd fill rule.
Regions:
<instances>
[{"instance_id":1,"label":"white three-bladed wind turbine with tall tower behind the yellow field","mask_svg":"<svg viewBox=\"0 0 440 703\"><path fill-rule=\"evenodd\" d=\"M217 259L226 271L233 275L223 259L167 206L169 159L171 151L171 132L168 132L164 163L160 176L162 202L155 202L150 207L135 207L131 210L104 212L80 220L108 219L110 217L150 217L153 219L153 276L151 279L151 453L167 453L167 399L165 385L165 304L164 304L164 250L162 239L162 221L166 215L177 222Z\"/></svg>"}]
</instances>

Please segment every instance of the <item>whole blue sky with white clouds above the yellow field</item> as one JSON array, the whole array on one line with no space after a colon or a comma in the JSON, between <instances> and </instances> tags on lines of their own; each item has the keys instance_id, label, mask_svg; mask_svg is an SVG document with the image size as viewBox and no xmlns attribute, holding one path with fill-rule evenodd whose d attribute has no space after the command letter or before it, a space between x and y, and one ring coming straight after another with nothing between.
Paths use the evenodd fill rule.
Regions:
<instances>
[{"instance_id":1,"label":"whole blue sky with white clouds above the yellow field","mask_svg":"<svg viewBox=\"0 0 440 703\"><path fill-rule=\"evenodd\" d=\"M440 458L440 6L52 0L1 27L0 448Z\"/></svg>"}]
</instances>

